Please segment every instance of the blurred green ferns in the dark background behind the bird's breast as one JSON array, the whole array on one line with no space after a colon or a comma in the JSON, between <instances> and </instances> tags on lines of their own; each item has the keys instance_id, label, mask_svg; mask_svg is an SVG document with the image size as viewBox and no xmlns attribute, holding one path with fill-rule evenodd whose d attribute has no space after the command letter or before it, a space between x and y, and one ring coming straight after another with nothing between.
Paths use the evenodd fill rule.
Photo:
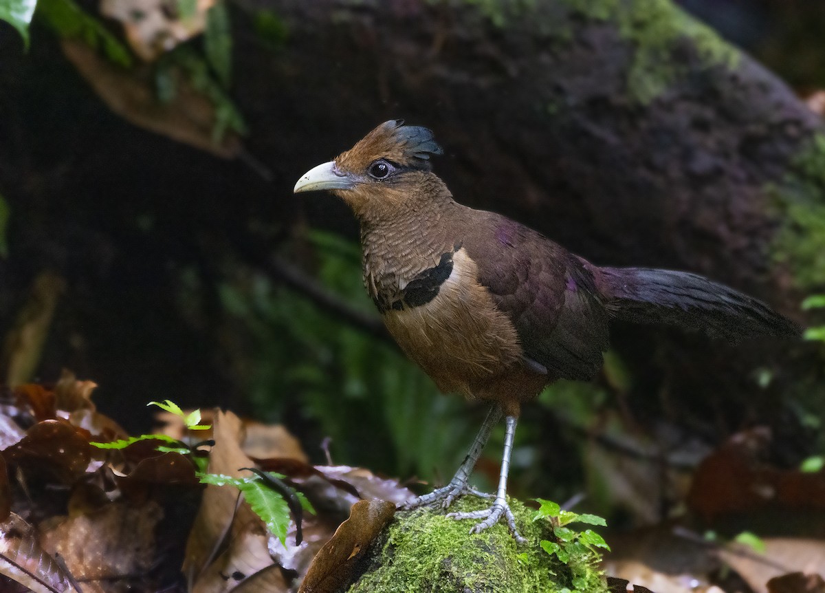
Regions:
<instances>
[{"instance_id":1,"label":"blurred green ferns in the dark background behind the bird's breast","mask_svg":"<svg viewBox=\"0 0 825 593\"><path fill-rule=\"evenodd\" d=\"M361 282L361 250L334 235L310 236L318 280L358 310L375 306ZM262 275L220 287L229 315L252 336L241 370L255 415L276 420L299 403L336 463L449 477L478 419L460 397L441 396L394 345L348 325Z\"/></svg>"}]
</instances>

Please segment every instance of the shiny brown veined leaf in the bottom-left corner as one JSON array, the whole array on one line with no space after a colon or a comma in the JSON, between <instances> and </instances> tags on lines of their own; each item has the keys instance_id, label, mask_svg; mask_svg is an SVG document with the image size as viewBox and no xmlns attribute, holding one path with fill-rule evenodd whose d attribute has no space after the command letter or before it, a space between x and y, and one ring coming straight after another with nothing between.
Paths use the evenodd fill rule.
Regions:
<instances>
[{"instance_id":1,"label":"shiny brown veined leaf in the bottom-left corner","mask_svg":"<svg viewBox=\"0 0 825 593\"><path fill-rule=\"evenodd\" d=\"M0 524L0 574L35 591L68 591L71 578L40 544L30 524L12 513Z\"/></svg>"}]
</instances>

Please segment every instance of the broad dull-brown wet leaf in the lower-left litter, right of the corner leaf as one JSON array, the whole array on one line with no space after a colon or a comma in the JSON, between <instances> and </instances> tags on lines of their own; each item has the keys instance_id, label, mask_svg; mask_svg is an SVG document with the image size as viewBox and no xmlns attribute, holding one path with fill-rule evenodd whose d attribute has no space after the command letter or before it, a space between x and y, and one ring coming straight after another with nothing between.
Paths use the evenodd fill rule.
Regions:
<instances>
[{"instance_id":1,"label":"broad dull-brown wet leaf in the lower-left litter, right of the corner leaf","mask_svg":"<svg viewBox=\"0 0 825 593\"><path fill-rule=\"evenodd\" d=\"M156 502L133 507L122 502L41 525L43 548L64 559L75 578L106 580L143 575L152 567L154 533L163 509Z\"/></svg>"}]
</instances>

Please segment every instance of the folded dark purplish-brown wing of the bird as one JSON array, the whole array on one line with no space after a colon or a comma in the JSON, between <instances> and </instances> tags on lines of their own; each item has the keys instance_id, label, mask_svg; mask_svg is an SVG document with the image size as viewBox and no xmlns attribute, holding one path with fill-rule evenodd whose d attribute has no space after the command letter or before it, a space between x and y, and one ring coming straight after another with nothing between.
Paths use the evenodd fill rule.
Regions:
<instances>
[{"instance_id":1,"label":"folded dark purplish-brown wing of the bird","mask_svg":"<svg viewBox=\"0 0 825 593\"><path fill-rule=\"evenodd\" d=\"M462 246L479 282L516 327L530 368L588 379L609 344L608 317L592 274L559 244L503 216L478 212Z\"/></svg>"}]
</instances>

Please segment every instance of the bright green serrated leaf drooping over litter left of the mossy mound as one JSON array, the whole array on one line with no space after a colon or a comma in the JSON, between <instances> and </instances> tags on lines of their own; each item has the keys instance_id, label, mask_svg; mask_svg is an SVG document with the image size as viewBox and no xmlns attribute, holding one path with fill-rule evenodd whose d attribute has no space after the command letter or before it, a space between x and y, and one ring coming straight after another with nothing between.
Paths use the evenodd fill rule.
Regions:
<instances>
[{"instance_id":1,"label":"bright green serrated leaf drooping over litter left of the mossy mound","mask_svg":"<svg viewBox=\"0 0 825 593\"><path fill-rule=\"evenodd\" d=\"M269 472L267 475L277 479L285 477L275 472ZM281 492L272 489L262 477L229 477L214 473L200 473L198 479L202 484L238 488L252 511L266 524L266 529L280 539L281 543L285 543L286 530L290 526L290 507ZM295 495L298 496L304 510L310 513L315 512L303 494L295 492Z\"/></svg>"}]
</instances>

